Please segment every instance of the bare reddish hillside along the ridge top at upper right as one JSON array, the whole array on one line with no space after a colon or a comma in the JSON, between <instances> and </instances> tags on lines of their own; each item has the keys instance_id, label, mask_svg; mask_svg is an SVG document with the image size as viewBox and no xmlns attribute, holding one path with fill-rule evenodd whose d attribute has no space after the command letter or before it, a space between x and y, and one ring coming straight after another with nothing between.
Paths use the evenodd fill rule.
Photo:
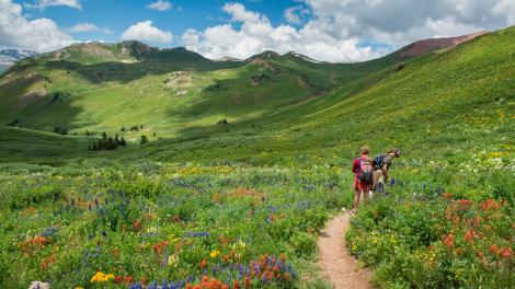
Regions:
<instances>
[{"instance_id":1,"label":"bare reddish hillside along the ridge top at upper right","mask_svg":"<svg viewBox=\"0 0 515 289\"><path fill-rule=\"evenodd\" d=\"M488 32L481 31L481 32L477 32L473 34L469 34L469 35L458 36L458 37L424 39L424 41L412 43L401 48L398 53L400 56L404 56L404 57L419 56L419 55L423 55L425 53L436 50L436 49L455 47L456 45L460 43L468 42L485 33Z\"/></svg>"}]
</instances>

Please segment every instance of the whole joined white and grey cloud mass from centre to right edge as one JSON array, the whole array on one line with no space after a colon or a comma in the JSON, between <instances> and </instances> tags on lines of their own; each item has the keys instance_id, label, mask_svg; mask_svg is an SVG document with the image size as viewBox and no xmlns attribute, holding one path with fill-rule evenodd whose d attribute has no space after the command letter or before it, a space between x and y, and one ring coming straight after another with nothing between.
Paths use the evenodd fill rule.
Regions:
<instances>
[{"instance_id":1,"label":"whole joined white and grey cloud mass from centre to right edge","mask_svg":"<svg viewBox=\"0 0 515 289\"><path fill-rule=\"evenodd\" d=\"M274 26L241 3L222 9L231 22L188 30L186 48L209 58L295 50L331 62L362 61L422 38L450 37L515 24L514 0L298 0ZM309 18L308 18L309 15ZM364 46L364 43L375 44ZM389 48L386 48L389 47Z\"/></svg>"}]
</instances>

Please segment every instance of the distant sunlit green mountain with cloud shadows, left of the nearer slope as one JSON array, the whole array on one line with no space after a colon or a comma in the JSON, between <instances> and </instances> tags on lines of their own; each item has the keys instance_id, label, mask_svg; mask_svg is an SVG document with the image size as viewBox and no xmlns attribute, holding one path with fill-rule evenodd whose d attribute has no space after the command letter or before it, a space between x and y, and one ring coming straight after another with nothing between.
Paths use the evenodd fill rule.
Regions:
<instances>
[{"instance_id":1,"label":"distant sunlit green mountain with cloud shadows, left of the nearer slope","mask_svg":"<svg viewBox=\"0 0 515 289\"><path fill-rule=\"evenodd\" d=\"M320 97L391 66L390 58L332 65L264 53L213 61L137 42L78 44L25 59L0 79L0 122L78 132L144 124L170 137L185 127L241 122Z\"/></svg>"}]
</instances>

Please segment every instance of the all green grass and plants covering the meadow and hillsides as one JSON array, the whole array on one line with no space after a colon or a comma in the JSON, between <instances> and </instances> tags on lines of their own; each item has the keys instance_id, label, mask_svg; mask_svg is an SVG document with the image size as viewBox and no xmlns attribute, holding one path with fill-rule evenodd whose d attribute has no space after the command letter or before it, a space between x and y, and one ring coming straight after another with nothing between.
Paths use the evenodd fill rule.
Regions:
<instances>
[{"instance_id":1,"label":"all green grass and plants covering the meadow and hillsides","mask_svg":"<svg viewBox=\"0 0 515 289\"><path fill-rule=\"evenodd\" d=\"M172 53L158 55L168 59ZM75 68L26 60L0 79L0 120L19 118L33 129L0 131L4 287L53 279L57 288L100 288L90 281L93 274L113 273L119 265L125 277L194 275L199 282L203 258L210 262L216 250L229 254L237 240L251 235L255 242L240 252L243 264L265 253L285 254L299 274L293 282L270 287L323 288L314 266L317 231L351 205L350 164L363 144L373 154L392 146L402 151L391 169L397 183L362 207L347 235L350 250L375 269L379 287L513 287L514 27L413 59L390 55L365 63L319 65L286 55L264 66L233 67L201 59L186 95L163 83L185 62L150 71L150 60L79 58L73 56ZM396 69L399 60L402 70ZM112 68L117 77L98 74ZM252 85L250 78L262 73L270 78ZM20 104L20 95L38 89L47 94ZM56 92L59 100L50 103ZM222 118L229 124L217 125ZM142 131L119 131L140 124ZM91 137L41 131L56 125L79 135L117 131L131 144L89 152ZM150 143L138 146L140 135ZM255 198L261 193L266 205ZM126 213L110 207L113 198L127 203ZM71 199L78 204L70 205ZM95 199L102 210L88 208ZM302 201L311 207L289 206ZM466 207L458 210L465 206L459 204ZM457 216L449 219L447 210ZM476 217L484 221L472 224ZM145 220L142 228L127 231L138 220ZM18 244L23 247L54 227L59 229L52 245L24 257ZM472 227L482 236L470 242ZM182 262L162 266L163 255L151 246L192 230L214 235L191 243L180 238L187 244L176 253ZM141 247L148 233L152 236ZM230 245L225 247L220 235L231 238ZM174 245L165 245L169 253ZM81 265L84 250L96 246L106 253ZM50 256L57 262L48 264ZM253 279L253 286L264 285Z\"/></svg>"}]
</instances>

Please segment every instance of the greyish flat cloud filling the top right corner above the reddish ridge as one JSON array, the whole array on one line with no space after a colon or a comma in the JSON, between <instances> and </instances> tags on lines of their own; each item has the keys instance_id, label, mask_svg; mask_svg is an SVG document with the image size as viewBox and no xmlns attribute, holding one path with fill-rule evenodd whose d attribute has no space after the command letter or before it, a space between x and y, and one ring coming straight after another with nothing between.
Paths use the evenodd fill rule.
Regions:
<instances>
[{"instance_id":1,"label":"greyish flat cloud filling the top right corner above the reddish ridge","mask_svg":"<svg viewBox=\"0 0 515 289\"><path fill-rule=\"evenodd\" d=\"M302 0L311 25L337 38L359 37L392 46L515 24L513 0Z\"/></svg>"}]
</instances>

